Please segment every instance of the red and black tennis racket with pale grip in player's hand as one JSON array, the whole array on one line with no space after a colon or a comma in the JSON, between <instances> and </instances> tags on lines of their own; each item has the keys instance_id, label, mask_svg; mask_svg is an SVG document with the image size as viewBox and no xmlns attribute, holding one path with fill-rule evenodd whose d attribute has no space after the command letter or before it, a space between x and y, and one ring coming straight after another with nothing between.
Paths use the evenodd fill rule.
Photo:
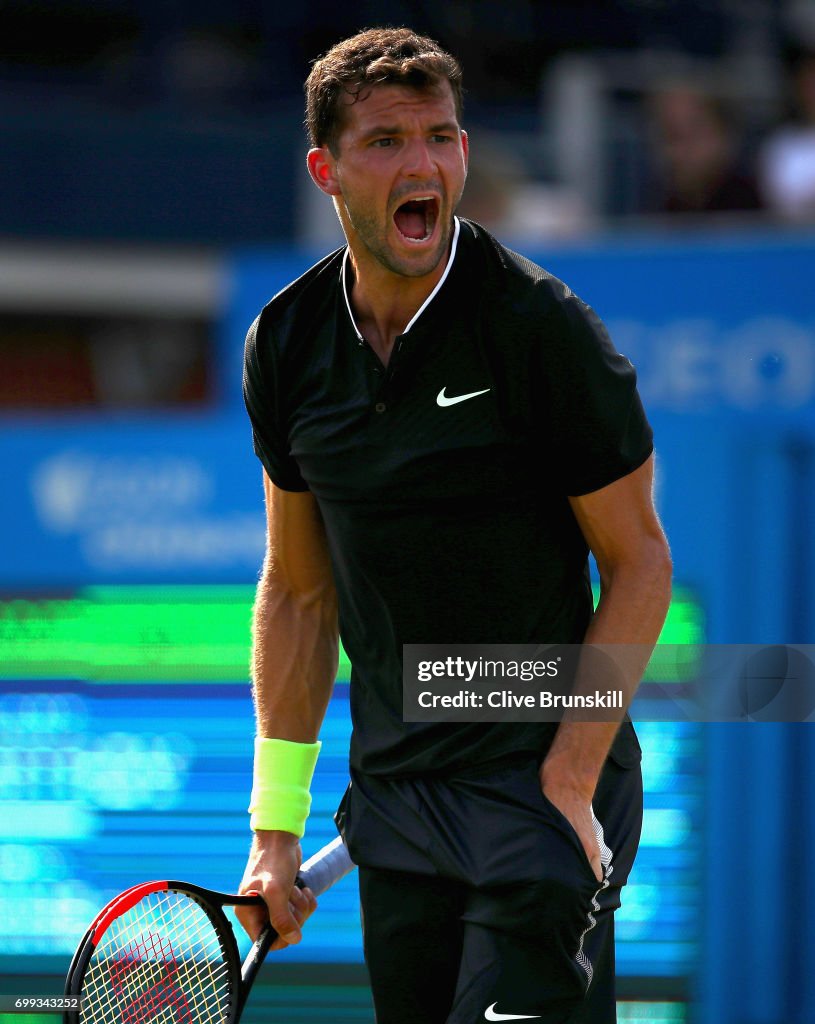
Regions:
<instances>
[{"instance_id":1,"label":"red and black tennis racket with pale grip in player's hand","mask_svg":"<svg viewBox=\"0 0 815 1024\"><path fill-rule=\"evenodd\" d=\"M338 837L303 863L297 885L319 896L353 866ZM120 893L71 962L66 995L81 1002L66 1024L235 1024L276 932L263 929L241 964L223 907L262 903L185 882Z\"/></svg>"}]
</instances>

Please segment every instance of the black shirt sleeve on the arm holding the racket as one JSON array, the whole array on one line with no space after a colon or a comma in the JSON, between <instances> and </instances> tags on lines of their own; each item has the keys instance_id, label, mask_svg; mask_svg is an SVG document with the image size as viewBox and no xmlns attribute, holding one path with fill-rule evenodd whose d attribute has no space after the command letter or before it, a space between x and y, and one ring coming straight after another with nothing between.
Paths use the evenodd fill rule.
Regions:
<instances>
[{"instance_id":1,"label":"black shirt sleeve on the arm holding the racket","mask_svg":"<svg viewBox=\"0 0 815 1024\"><path fill-rule=\"evenodd\" d=\"M289 447L281 400L285 392L267 331L261 313L249 329L244 350L244 402L252 422L255 454L275 486L283 490L308 490Z\"/></svg>"}]
</instances>

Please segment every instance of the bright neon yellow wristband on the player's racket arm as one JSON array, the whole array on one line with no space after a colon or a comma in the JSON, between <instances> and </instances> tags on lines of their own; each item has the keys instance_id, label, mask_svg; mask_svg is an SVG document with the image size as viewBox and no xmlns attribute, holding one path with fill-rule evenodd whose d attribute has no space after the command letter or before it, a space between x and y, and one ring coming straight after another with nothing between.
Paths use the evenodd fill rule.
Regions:
<instances>
[{"instance_id":1,"label":"bright neon yellow wristband on the player's racket arm","mask_svg":"<svg viewBox=\"0 0 815 1024\"><path fill-rule=\"evenodd\" d=\"M305 833L311 809L311 779L323 744L255 737L255 770L249 823L252 828Z\"/></svg>"}]
</instances>

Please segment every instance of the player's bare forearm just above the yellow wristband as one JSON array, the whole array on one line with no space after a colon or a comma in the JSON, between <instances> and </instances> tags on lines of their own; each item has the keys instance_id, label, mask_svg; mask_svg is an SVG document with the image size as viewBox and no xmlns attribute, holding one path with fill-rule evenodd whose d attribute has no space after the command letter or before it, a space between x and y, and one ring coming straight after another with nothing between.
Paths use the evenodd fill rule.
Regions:
<instances>
[{"instance_id":1,"label":"player's bare forearm just above the yellow wristband","mask_svg":"<svg viewBox=\"0 0 815 1024\"><path fill-rule=\"evenodd\" d=\"M337 675L337 598L331 580L295 588L267 558L253 623L252 682L260 736L313 742Z\"/></svg>"}]
</instances>

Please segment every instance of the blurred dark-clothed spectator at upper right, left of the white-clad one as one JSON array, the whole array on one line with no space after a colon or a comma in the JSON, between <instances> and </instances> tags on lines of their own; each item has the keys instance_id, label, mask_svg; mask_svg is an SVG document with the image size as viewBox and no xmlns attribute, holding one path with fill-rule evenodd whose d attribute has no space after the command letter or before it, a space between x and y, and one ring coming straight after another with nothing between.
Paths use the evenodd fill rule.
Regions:
<instances>
[{"instance_id":1,"label":"blurred dark-clothed spectator at upper right, left of the white-clad one","mask_svg":"<svg viewBox=\"0 0 815 1024\"><path fill-rule=\"evenodd\" d=\"M658 182L650 212L714 213L760 210L755 177L742 169L732 112L690 84L656 92L650 100Z\"/></svg>"}]
</instances>

